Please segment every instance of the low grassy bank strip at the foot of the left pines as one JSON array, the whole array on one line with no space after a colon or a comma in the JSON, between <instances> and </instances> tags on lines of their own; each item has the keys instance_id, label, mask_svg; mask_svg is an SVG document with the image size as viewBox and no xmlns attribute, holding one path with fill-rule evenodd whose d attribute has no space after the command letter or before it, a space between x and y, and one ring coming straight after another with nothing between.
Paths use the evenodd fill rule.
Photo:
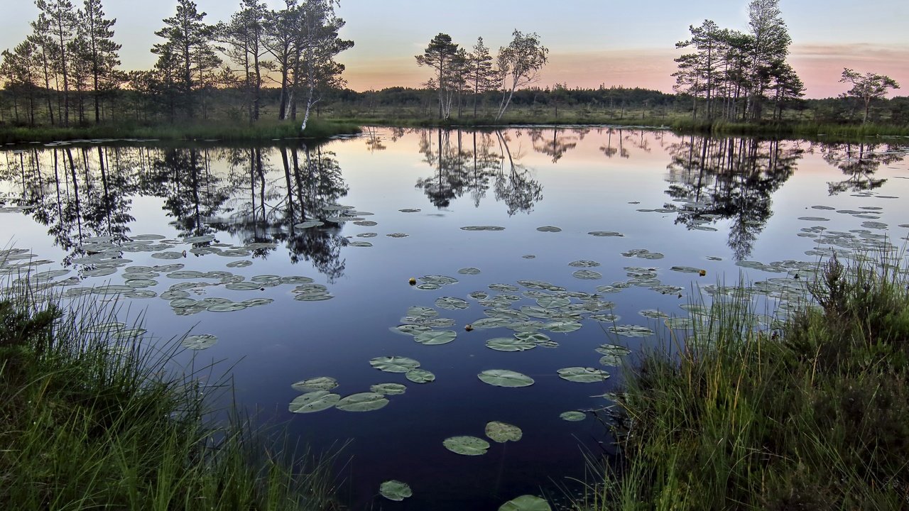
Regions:
<instances>
[{"instance_id":1,"label":"low grassy bank strip at the foot of the left pines","mask_svg":"<svg viewBox=\"0 0 909 511\"><path fill-rule=\"evenodd\" d=\"M217 140L222 142L270 141L283 138L327 138L360 133L360 125L343 121L311 120L300 132L296 121L199 122L175 125L90 125L84 127L0 127L0 144L56 142L92 139L155 139L173 141Z\"/></svg>"}]
</instances>

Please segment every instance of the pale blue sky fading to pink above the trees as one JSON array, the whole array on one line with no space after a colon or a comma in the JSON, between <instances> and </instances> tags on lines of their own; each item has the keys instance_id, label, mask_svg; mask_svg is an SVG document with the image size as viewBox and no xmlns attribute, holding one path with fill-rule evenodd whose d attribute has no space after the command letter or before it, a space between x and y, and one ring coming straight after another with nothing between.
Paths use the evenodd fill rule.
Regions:
<instances>
[{"instance_id":1,"label":"pale blue sky fading to pink above the trees","mask_svg":"<svg viewBox=\"0 0 909 511\"><path fill-rule=\"evenodd\" d=\"M79 0L73 0L79 4ZM272 8L281 0L265 0ZM205 21L226 21L238 0L196 0ZM115 40L126 69L155 63L152 45L162 19L175 13L175 0L104 0L117 19ZM438 33L451 35L468 50L482 36L494 50L512 32L535 32L549 48L549 63L537 85L629 86L672 92L675 43L689 36L689 25L712 19L724 28L747 30L748 0L341 0L341 35L355 46L339 56L347 85L357 91L388 86L419 86L431 75L418 67ZM888 75L909 95L909 2L905 0L781 0L792 36L789 63L802 78L806 97L830 97L844 67ZM0 50L17 45L31 31L37 9L29 0L0 0ZM893 94L892 94L893 95Z\"/></svg>"}]
</instances>

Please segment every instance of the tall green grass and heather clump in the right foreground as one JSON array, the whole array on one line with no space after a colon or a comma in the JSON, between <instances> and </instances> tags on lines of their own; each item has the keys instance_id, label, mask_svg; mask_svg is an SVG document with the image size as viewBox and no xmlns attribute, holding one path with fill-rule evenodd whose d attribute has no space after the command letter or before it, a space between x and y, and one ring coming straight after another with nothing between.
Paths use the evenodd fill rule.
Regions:
<instances>
[{"instance_id":1,"label":"tall green grass and heather clump in the right foreground","mask_svg":"<svg viewBox=\"0 0 909 511\"><path fill-rule=\"evenodd\" d=\"M644 356L619 398L622 461L575 507L909 507L909 279L836 258L821 275L820 307L779 329L733 299Z\"/></svg>"}]
</instances>

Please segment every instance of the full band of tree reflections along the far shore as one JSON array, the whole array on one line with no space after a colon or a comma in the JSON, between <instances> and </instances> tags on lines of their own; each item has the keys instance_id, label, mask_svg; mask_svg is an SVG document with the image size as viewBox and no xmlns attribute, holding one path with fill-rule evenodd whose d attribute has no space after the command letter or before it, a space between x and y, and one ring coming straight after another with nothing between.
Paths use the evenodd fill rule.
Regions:
<instances>
[{"instance_id":1,"label":"full band of tree reflections along the far shore","mask_svg":"<svg viewBox=\"0 0 909 511\"><path fill-rule=\"evenodd\" d=\"M881 143L809 144L751 138L675 136L607 127L511 130L370 128L363 137L375 154L404 145L422 156L431 174L416 180L431 205L450 207L469 197L474 207L490 190L507 215L530 214L543 200L537 178L547 167L609 160L668 158L671 201L661 213L676 225L713 231L728 226L734 259L748 258L774 214L773 195L794 175L805 153L818 153L846 178L828 183L830 195L880 188L875 173L904 154ZM593 150L594 156L591 156ZM661 152L662 151L662 152ZM541 163L545 157L545 162ZM595 163L595 162L594 162ZM284 245L293 263L306 261L334 281L345 272L348 239L337 221L338 201L349 192L337 155L324 145L275 147L128 147L52 145L5 152L8 200L31 207L65 264L84 256L85 240L130 240L136 197L163 199L165 215L181 236L231 235L265 258ZM335 221L332 221L335 218ZM299 228L319 220L319 228ZM196 246L196 249L205 247ZM197 252L195 252L197 254Z\"/></svg>"}]
</instances>

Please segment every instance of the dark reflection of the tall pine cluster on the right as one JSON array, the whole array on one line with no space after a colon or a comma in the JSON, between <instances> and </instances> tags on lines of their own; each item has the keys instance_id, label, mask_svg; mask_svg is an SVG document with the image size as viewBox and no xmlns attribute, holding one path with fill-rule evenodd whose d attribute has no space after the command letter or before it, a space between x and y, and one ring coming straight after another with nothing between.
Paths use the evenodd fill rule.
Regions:
<instances>
[{"instance_id":1,"label":"dark reflection of the tall pine cluster on the right","mask_svg":"<svg viewBox=\"0 0 909 511\"><path fill-rule=\"evenodd\" d=\"M802 157L798 145L747 138L691 135L668 146L666 194L683 205L676 224L703 228L732 220L728 245L736 260L748 257L754 240L773 215L771 196L794 173Z\"/></svg>"}]
</instances>

